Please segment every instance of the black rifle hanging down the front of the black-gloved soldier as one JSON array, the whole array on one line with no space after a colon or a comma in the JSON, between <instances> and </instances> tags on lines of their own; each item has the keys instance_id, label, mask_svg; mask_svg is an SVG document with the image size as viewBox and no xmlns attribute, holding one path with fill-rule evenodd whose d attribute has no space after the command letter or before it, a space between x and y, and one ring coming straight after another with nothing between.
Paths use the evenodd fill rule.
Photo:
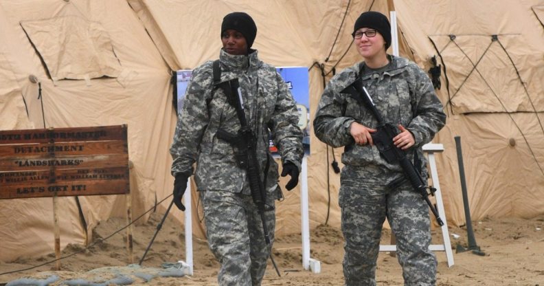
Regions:
<instances>
[{"instance_id":1,"label":"black rifle hanging down the front of the black-gloved soldier","mask_svg":"<svg viewBox=\"0 0 544 286\"><path fill-rule=\"evenodd\" d=\"M240 120L241 125L241 128L240 130L238 130L238 133L236 135L228 133L223 129L218 129L217 137L221 140L229 142L232 146L236 147L236 160L238 161L238 165L240 166L240 168L246 170L247 178L249 179L249 189L251 190L251 197L253 199L253 202L257 205L261 217L262 231L264 232L264 241L266 241L267 245L269 245L270 237L267 223L265 223L264 218L264 211L267 207L267 192L264 188L264 182L260 177L261 172L260 165L257 159L256 135L253 134L253 131L251 131L251 128L247 124L238 78L217 83L216 87L219 87L223 89L223 91L225 91L225 95L227 96L229 104L234 107L234 109L236 109L236 115L238 115L238 120ZM280 272L277 270L274 259L272 258L272 254L270 255L270 259L272 260L277 275L280 276Z\"/></svg>"}]
</instances>

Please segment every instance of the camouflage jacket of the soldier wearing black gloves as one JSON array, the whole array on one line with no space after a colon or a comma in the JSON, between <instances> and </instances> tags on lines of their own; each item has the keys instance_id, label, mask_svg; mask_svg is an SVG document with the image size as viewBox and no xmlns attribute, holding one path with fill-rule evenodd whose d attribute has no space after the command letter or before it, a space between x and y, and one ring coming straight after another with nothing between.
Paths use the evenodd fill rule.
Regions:
<instances>
[{"instance_id":1,"label":"camouflage jacket of the soldier wearing black gloves","mask_svg":"<svg viewBox=\"0 0 544 286\"><path fill-rule=\"evenodd\" d=\"M247 124L257 137L260 170L266 170L267 190L277 187L277 164L269 153L269 130L282 156L282 164L301 166L302 131L297 126L298 111L291 92L274 67L263 63L253 51L249 56L235 56L220 51L221 81L238 78ZM218 129L236 134L240 120L223 89L214 88L213 61L192 72L183 99L170 154L174 159L172 175L192 174L199 190L240 192L246 184L246 172L238 166L235 148L218 139Z\"/></svg>"}]
</instances>

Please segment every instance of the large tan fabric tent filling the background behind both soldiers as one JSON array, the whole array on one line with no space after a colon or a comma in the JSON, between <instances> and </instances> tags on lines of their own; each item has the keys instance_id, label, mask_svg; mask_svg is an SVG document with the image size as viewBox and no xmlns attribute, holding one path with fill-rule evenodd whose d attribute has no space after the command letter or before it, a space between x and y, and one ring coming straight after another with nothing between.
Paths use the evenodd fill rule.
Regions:
<instances>
[{"instance_id":1,"label":"large tan fabric tent filling the background behind both soldiers","mask_svg":"<svg viewBox=\"0 0 544 286\"><path fill-rule=\"evenodd\" d=\"M360 61L350 34L367 10L396 11L400 55L425 70L440 66L436 91L448 118L433 142L445 149L437 162L448 222L465 223L456 135L473 219L542 214L542 0L3 0L0 130L127 124L137 217L172 190L172 71L218 57L225 14L251 14L258 26L253 47L267 63L308 67L313 119L326 81ZM330 162L342 150L313 134L310 145L310 227L338 227L339 174ZM300 225L298 188L284 195L277 236ZM196 193L193 198L194 235L204 237ZM89 242L100 221L125 215L124 196L60 197L58 203L63 248ZM183 221L178 210L171 215ZM0 261L52 252L52 225L51 198L0 200Z\"/></svg>"}]
</instances>

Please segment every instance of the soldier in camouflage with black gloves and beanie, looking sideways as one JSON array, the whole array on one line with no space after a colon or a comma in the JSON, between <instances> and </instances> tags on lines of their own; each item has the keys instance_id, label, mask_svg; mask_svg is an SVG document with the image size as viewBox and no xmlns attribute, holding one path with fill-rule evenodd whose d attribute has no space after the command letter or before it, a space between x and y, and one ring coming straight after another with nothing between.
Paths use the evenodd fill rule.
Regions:
<instances>
[{"instance_id":1,"label":"soldier in camouflage with black gloves and beanie, looking sideways","mask_svg":"<svg viewBox=\"0 0 544 286\"><path fill-rule=\"evenodd\" d=\"M220 81L238 78L248 125L256 134L256 152L267 192L265 223L274 238L274 201L281 197L277 164L269 153L269 131L282 157L286 188L297 185L301 168L302 131L288 87L275 67L251 49L257 27L248 14L227 14L221 25ZM223 129L236 134L240 120L223 89L214 88L212 61L197 67L188 84L170 153L174 159L174 202L193 173L203 202L209 248L220 262L219 285L260 285L271 244L264 239L258 208L251 198L246 170L238 166L234 146L218 138Z\"/></svg>"}]
</instances>

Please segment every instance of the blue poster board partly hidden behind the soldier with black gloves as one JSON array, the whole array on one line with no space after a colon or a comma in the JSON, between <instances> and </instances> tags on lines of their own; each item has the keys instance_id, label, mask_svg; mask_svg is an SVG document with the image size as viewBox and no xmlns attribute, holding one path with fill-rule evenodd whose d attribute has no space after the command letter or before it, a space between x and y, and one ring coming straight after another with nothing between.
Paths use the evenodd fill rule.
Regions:
<instances>
[{"instance_id":1,"label":"blue poster board partly hidden behind the soldier with black gloves","mask_svg":"<svg viewBox=\"0 0 544 286\"><path fill-rule=\"evenodd\" d=\"M304 155L310 155L310 93L308 89L308 68L307 67L277 67L277 72L282 76L287 87L293 94L293 98L297 102L299 111L298 126L302 130L302 144L304 146ZM183 107L183 97L185 89L191 78L192 71L179 70L177 71L177 106L178 111ZM273 155L277 154L277 148L270 140L270 151Z\"/></svg>"}]
</instances>

